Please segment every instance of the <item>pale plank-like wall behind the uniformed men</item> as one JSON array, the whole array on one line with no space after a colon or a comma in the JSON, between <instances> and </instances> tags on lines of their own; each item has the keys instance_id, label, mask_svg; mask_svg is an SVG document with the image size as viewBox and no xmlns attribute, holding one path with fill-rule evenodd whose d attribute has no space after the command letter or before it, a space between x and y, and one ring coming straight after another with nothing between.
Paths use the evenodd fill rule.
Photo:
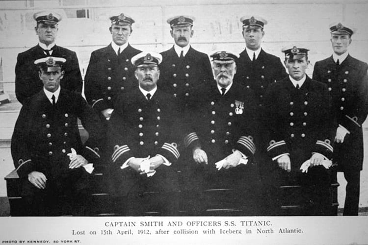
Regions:
<instances>
[{"instance_id":1,"label":"pale plank-like wall behind the uniformed men","mask_svg":"<svg viewBox=\"0 0 368 245\"><path fill-rule=\"evenodd\" d=\"M240 17L262 16L268 21L264 27L263 49L283 59L281 49L284 46L306 45L311 49L309 75L313 73L315 61L332 53L329 24L342 21L357 29L352 36L350 54L368 61L368 1L364 0L8 0L0 1L0 71L4 90L9 93L14 93L17 54L38 42L32 15L44 9L53 9L63 15L56 43L77 52L83 76L91 52L111 42L109 16L120 13L131 16L136 22L132 26L131 45L158 52L173 45L170 26L166 23L171 16L187 14L196 18L191 45L206 53L220 48L242 51L245 44ZM76 18L76 11L81 9L88 10L89 18ZM7 114L0 115L1 129ZM11 127L0 130L0 176L13 169L9 150L11 133ZM367 207L367 166L365 169L361 176L360 205ZM342 174L338 177L342 185L339 188L342 207L345 183ZM0 196L6 196L5 181L0 181Z\"/></svg>"}]
</instances>

